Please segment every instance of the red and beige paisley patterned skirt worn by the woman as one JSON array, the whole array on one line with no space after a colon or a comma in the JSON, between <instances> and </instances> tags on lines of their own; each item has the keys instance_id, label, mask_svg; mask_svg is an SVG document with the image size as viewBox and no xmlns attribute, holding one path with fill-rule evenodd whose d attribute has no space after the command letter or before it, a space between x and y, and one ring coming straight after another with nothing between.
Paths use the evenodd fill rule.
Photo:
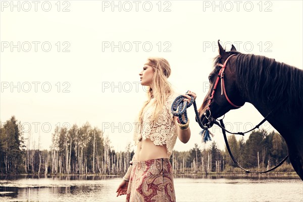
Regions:
<instances>
[{"instance_id":1,"label":"red and beige paisley patterned skirt worn by the woman","mask_svg":"<svg viewBox=\"0 0 303 202\"><path fill-rule=\"evenodd\" d=\"M133 162L126 201L176 201L169 159Z\"/></svg>"}]
</instances>

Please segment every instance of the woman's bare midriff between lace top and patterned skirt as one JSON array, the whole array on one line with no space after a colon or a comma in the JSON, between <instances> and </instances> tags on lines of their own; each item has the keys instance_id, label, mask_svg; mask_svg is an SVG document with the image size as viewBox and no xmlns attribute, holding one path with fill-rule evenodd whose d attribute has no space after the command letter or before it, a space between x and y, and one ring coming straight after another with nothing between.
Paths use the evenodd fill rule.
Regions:
<instances>
[{"instance_id":1,"label":"woman's bare midriff between lace top and patterned skirt","mask_svg":"<svg viewBox=\"0 0 303 202\"><path fill-rule=\"evenodd\" d=\"M135 161L168 158L166 144L156 146L149 138L139 141L134 154Z\"/></svg>"}]
</instances>

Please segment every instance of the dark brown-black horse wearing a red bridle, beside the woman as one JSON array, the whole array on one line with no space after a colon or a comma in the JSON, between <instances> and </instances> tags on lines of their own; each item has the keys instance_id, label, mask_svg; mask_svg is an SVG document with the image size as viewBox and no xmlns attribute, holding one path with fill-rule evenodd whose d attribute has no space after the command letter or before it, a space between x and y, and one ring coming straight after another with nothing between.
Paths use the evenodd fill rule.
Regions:
<instances>
[{"instance_id":1,"label":"dark brown-black horse wearing a red bridle, beside the woman","mask_svg":"<svg viewBox=\"0 0 303 202\"><path fill-rule=\"evenodd\" d=\"M265 56L241 54L234 45L225 51L219 40L218 46L210 88L198 109L200 121L210 128L230 110L252 104L285 139L290 163L303 180L303 71Z\"/></svg>"}]
</instances>

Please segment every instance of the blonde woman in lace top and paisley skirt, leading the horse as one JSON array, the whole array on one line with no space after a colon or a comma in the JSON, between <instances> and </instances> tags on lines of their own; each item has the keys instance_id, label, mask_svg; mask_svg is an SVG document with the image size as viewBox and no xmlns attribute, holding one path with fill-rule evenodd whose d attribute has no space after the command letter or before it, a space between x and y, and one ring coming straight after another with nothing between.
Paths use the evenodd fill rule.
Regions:
<instances>
[{"instance_id":1,"label":"blonde woman in lace top and paisley skirt, leading the horse","mask_svg":"<svg viewBox=\"0 0 303 202\"><path fill-rule=\"evenodd\" d=\"M117 196L127 194L126 201L176 201L169 158L177 136L188 142L190 129L189 121L181 125L171 113L179 94L167 81L170 74L170 65L163 58L149 58L139 73L141 85L149 86L148 100L139 112L134 132L137 150L116 191ZM187 94L183 96L188 103L191 96L196 98L191 91Z\"/></svg>"}]
</instances>

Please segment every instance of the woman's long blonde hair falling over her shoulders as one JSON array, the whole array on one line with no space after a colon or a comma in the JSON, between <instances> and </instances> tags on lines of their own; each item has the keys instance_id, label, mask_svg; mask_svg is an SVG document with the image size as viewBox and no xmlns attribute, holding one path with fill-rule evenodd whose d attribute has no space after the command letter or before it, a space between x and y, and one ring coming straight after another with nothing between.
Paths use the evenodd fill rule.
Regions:
<instances>
[{"instance_id":1,"label":"woman's long blonde hair falling over her shoulders","mask_svg":"<svg viewBox=\"0 0 303 202\"><path fill-rule=\"evenodd\" d=\"M148 58L145 65L151 66L154 68L154 77L151 82L151 88L148 86L147 91L147 100L144 102L142 109L139 112L138 121L142 124L143 122L143 111L145 107L150 103L151 98L155 98L155 111L151 115L150 121L153 122L157 120L159 114L163 110L166 99L174 91L168 82L167 78L171 74L171 68L167 60L164 58Z\"/></svg>"}]
</instances>

